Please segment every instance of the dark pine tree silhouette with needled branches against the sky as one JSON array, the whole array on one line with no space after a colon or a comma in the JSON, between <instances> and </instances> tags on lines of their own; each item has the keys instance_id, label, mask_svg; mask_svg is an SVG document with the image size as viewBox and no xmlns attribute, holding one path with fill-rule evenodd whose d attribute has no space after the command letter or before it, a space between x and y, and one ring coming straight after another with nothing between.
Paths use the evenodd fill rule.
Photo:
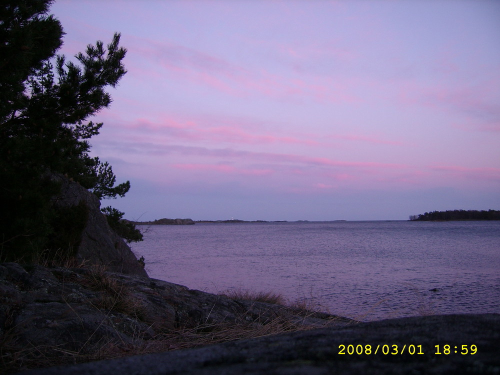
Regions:
<instances>
[{"instance_id":1,"label":"dark pine tree silhouette with needled branches against the sky","mask_svg":"<svg viewBox=\"0 0 500 375\"><path fill-rule=\"evenodd\" d=\"M64 32L48 14L51 3L0 5L0 259L55 246L53 238L60 237L58 228L71 226L68 220L81 227L84 209L54 207L52 197L60 191L54 174L99 198L123 196L130 188L129 181L115 185L111 166L88 154L88 139L102 126L88 119L111 103L105 88L115 87L125 74L126 49L115 33L106 47L97 41L76 54L77 63L56 56ZM123 214L106 213L112 213L110 223ZM138 239L136 232L133 236Z\"/></svg>"}]
</instances>

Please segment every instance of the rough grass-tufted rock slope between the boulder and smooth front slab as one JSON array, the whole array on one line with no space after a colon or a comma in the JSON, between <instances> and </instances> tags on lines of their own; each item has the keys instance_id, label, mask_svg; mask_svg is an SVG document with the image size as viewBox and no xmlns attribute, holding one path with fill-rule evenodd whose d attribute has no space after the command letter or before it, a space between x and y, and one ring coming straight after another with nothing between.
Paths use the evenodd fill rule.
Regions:
<instances>
[{"instance_id":1,"label":"rough grass-tufted rock slope between the boulder and smooth front slab","mask_svg":"<svg viewBox=\"0 0 500 375\"><path fill-rule=\"evenodd\" d=\"M349 322L102 267L0 263L1 360L11 372Z\"/></svg>"}]
</instances>

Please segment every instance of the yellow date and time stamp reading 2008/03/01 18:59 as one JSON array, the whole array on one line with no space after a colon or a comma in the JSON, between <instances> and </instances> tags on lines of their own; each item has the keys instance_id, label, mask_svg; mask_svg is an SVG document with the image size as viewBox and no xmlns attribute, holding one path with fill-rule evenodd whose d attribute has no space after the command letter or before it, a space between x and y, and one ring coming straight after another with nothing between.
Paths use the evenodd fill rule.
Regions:
<instances>
[{"instance_id":1,"label":"yellow date and time stamp reading 2008/03/01 18:59","mask_svg":"<svg viewBox=\"0 0 500 375\"><path fill-rule=\"evenodd\" d=\"M462 344L462 345L444 344L442 346L441 345L434 345L434 347L435 347L435 351L433 354L436 354L436 355L439 355L439 354L444 354L444 355L470 354L470 355L473 355L477 352L477 345L474 345L474 344L471 344L471 345L468 345L468 344ZM365 344L365 345L340 344L340 345L338 345L338 354L349 354L349 355L368 354L369 355L369 354L377 354L379 352L379 349L380 349L380 352L384 355L403 354L404 352L406 352L407 354L424 354L424 352L422 350L422 345L413 345L413 344L409 344L409 345L404 344L404 345L402 345L402 347L401 347L401 345L397 345L397 344L392 344L392 345L388 345L388 344L380 345L380 344L378 344L376 347L374 345L370 345L370 344Z\"/></svg>"}]
</instances>

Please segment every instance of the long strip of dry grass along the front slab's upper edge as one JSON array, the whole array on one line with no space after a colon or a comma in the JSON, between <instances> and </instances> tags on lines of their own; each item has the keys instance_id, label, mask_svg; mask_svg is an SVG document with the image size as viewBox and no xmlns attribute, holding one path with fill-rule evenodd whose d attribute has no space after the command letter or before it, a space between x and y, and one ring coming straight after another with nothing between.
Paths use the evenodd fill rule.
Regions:
<instances>
[{"instance_id":1,"label":"long strip of dry grass along the front slab's upper edge","mask_svg":"<svg viewBox=\"0 0 500 375\"><path fill-rule=\"evenodd\" d=\"M102 281L99 280L99 282ZM106 282L104 281L104 284L108 287ZM246 313L242 313L239 321L235 323L203 323L194 327L183 326L157 334L147 340L142 339L143 332L135 332L132 340L134 343L123 342L116 338L101 337L97 343L91 345L87 341L77 351L68 350L63 347L63 344L59 346L32 345L21 348L13 334L14 329L11 328L5 332L0 340L0 373L119 358L125 355L193 348L207 344L311 328L297 323L287 316L272 318L261 316L252 321L247 321L245 317ZM97 331L97 328L95 331Z\"/></svg>"}]
</instances>

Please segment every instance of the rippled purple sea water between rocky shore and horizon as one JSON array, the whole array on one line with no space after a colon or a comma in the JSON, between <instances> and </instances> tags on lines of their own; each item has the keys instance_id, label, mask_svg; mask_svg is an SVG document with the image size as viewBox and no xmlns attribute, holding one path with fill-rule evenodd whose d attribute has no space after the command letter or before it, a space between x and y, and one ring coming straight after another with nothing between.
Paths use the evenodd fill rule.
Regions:
<instances>
[{"instance_id":1,"label":"rippled purple sea water between rocky shore and horizon","mask_svg":"<svg viewBox=\"0 0 500 375\"><path fill-rule=\"evenodd\" d=\"M141 229L146 229L141 226ZM363 320L500 312L500 221L153 225L132 250L191 289L272 290Z\"/></svg>"}]
</instances>

